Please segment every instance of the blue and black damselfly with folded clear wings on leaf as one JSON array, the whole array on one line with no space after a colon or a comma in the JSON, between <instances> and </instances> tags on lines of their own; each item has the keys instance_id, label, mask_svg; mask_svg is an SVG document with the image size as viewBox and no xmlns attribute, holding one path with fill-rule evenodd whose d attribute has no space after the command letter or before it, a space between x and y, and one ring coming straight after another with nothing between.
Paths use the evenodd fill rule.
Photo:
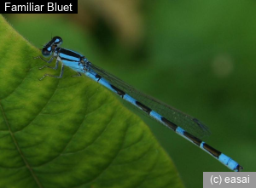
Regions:
<instances>
[{"instance_id":1,"label":"blue and black damselfly with folded clear wings on leaf","mask_svg":"<svg viewBox=\"0 0 256 188\"><path fill-rule=\"evenodd\" d=\"M40 58L47 63L52 62L52 60L56 58L55 67L43 66L39 69L48 67L56 70L61 62L60 76L45 74L44 77L61 78L64 71L64 65L68 66L78 72L78 75L74 77L79 77L81 76L81 73L83 73L97 83L101 83L115 94L118 94L123 100L128 101L131 105L135 105L137 108L147 113L149 117L154 118L157 122L160 122L186 140L189 140L193 144L199 146L203 151L209 153L212 157L216 158L219 162L222 162L231 170L239 172L243 169L236 161L197 138L209 133L207 127L198 119L190 117L189 115L186 115L183 112L160 102L159 100L155 100L146 94L142 94L127 83L121 81L119 78L114 77L107 71L104 71L90 63L84 55L70 49L61 48L61 43L61 37L53 37L49 43L44 46L42 54L44 57L51 57L49 60L44 60L41 56L35 57L35 59ZM43 80L44 77L40 80Z\"/></svg>"}]
</instances>

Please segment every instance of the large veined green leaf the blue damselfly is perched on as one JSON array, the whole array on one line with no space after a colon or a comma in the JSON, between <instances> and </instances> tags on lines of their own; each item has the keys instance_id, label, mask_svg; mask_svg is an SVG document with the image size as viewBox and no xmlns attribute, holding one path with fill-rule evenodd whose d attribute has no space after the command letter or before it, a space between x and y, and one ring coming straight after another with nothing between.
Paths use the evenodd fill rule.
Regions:
<instances>
[{"instance_id":1,"label":"large veined green leaf the blue damselfly is perched on","mask_svg":"<svg viewBox=\"0 0 256 188\"><path fill-rule=\"evenodd\" d=\"M45 68L40 51L0 15L0 187L183 187L148 127L75 71Z\"/></svg>"}]
</instances>

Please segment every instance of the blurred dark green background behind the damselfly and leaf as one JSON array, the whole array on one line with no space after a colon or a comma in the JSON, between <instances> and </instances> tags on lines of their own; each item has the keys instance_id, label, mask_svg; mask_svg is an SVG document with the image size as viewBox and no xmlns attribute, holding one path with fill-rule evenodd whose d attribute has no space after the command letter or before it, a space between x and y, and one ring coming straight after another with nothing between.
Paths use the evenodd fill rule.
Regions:
<instances>
[{"instance_id":1,"label":"blurred dark green background behind the damselfly and leaf","mask_svg":"<svg viewBox=\"0 0 256 188\"><path fill-rule=\"evenodd\" d=\"M256 169L256 2L79 0L79 14L4 14L36 47L50 37L135 88L205 122L209 145ZM29 55L29 54L27 54ZM229 171L164 126L143 118L186 187Z\"/></svg>"}]
</instances>

